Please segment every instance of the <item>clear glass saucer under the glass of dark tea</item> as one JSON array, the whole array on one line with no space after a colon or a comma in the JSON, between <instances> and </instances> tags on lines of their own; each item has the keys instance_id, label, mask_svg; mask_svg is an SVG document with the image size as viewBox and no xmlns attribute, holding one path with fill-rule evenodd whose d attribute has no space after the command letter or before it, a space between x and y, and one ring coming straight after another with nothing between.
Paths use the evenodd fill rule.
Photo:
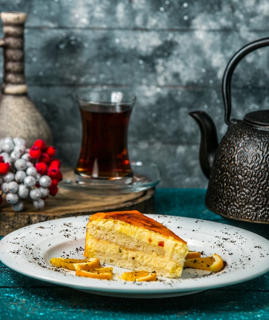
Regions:
<instances>
[{"instance_id":1,"label":"clear glass saucer under the glass of dark tea","mask_svg":"<svg viewBox=\"0 0 269 320\"><path fill-rule=\"evenodd\" d=\"M63 172L63 180L59 182L59 187L73 190L73 191L87 191L95 195L119 195L133 192L145 191L153 188L161 181L161 171L155 163L143 164L142 162L131 162L133 170L133 178L130 184L115 184L111 185L96 185L87 182L77 182L75 173ZM68 176L67 176L68 175Z\"/></svg>"}]
</instances>

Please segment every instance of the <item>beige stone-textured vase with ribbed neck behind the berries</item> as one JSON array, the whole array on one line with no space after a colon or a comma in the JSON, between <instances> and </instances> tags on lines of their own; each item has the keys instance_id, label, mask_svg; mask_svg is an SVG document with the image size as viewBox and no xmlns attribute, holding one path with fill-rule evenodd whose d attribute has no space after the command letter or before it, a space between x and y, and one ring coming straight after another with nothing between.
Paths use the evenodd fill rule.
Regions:
<instances>
[{"instance_id":1,"label":"beige stone-textured vase with ribbed neck behind the berries","mask_svg":"<svg viewBox=\"0 0 269 320\"><path fill-rule=\"evenodd\" d=\"M28 96L25 80L24 24L27 14L2 12L4 36L0 46L4 52L4 74L0 97L0 139L23 138L28 146L43 139L52 144L47 122Z\"/></svg>"}]
</instances>

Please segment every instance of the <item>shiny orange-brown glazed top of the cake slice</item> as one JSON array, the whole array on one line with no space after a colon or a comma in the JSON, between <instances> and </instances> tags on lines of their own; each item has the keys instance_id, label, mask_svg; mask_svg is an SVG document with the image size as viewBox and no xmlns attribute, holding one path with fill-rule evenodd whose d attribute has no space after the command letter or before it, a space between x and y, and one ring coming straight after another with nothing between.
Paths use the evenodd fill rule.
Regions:
<instances>
[{"instance_id":1,"label":"shiny orange-brown glazed top of the cake slice","mask_svg":"<svg viewBox=\"0 0 269 320\"><path fill-rule=\"evenodd\" d=\"M114 211L114 212L98 212L89 216L89 221L94 221L96 219L115 219L120 220L132 225L143 227L145 229L158 232L166 237L173 237L174 239L187 243L176 234L174 234L169 228L164 226L162 223L155 221L149 217L146 217L141 212L137 210L129 211Z\"/></svg>"}]
</instances>

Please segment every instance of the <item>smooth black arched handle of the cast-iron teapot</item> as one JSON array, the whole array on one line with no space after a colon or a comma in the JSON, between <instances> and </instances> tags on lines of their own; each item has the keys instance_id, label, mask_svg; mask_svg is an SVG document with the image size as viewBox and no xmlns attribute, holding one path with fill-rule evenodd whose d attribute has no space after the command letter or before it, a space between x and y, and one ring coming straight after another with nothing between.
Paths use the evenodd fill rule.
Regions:
<instances>
[{"instance_id":1,"label":"smooth black arched handle of the cast-iron teapot","mask_svg":"<svg viewBox=\"0 0 269 320\"><path fill-rule=\"evenodd\" d=\"M232 57L232 59L229 61L225 69L223 79L222 79L222 96L223 96L223 102L225 107L225 123L228 125L230 124L230 116L231 116L231 109L232 109L231 79L232 79L232 75L235 70L235 67L245 55L247 55L248 53L250 53L255 49L265 47L266 45L269 45L269 38L262 38L246 44L243 48L237 51L237 53Z\"/></svg>"}]
</instances>

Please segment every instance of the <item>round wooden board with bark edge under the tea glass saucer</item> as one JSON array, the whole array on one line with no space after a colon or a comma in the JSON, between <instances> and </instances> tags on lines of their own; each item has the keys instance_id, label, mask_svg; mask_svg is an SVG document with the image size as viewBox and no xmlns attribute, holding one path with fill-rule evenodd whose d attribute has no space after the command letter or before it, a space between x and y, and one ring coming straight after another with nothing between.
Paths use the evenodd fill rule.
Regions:
<instances>
[{"instance_id":1,"label":"round wooden board with bark edge under the tea glass saucer","mask_svg":"<svg viewBox=\"0 0 269 320\"><path fill-rule=\"evenodd\" d=\"M14 212L11 205L3 201L0 207L0 236L33 223L100 211L139 210L150 214L153 213L154 193L154 189L149 189L124 195L95 196L86 191L59 188L55 197L46 199L42 210L35 209L31 201L25 201L23 212Z\"/></svg>"}]
</instances>

